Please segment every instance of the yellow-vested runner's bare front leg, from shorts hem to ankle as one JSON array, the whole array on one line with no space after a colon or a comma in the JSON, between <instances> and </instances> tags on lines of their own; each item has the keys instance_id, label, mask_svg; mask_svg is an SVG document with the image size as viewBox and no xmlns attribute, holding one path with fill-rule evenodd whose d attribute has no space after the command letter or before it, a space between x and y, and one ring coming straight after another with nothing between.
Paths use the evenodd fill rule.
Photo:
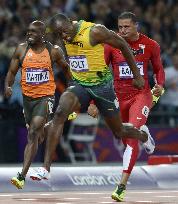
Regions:
<instances>
[{"instance_id":1,"label":"yellow-vested runner's bare front leg, from shorts hem to ankle","mask_svg":"<svg viewBox=\"0 0 178 204\"><path fill-rule=\"evenodd\" d=\"M54 114L54 118L49 122L47 127L44 167L48 171L50 171L52 154L55 151L63 132L64 122L70 113L78 110L79 108L80 103L74 93L66 91L61 95L58 108Z\"/></svg>"}]
</instances>

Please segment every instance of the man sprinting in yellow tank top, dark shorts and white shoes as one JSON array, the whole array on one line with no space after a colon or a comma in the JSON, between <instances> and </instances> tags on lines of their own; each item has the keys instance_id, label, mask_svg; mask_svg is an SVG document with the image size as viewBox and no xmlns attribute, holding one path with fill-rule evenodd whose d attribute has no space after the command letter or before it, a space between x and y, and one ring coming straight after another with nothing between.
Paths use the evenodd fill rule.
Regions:
<instances>
[{"instance_id":1,"label":"man sprinting in yellow tank top, dark shorts and white shoes","mask_svg":"<svg viewBox=\"0 0 178 204\"><path fill-rule=\"evenodd\" d=\"M104 60L104 43L120 49L133 72L133 84L142 88L144 80L127 43L103 25L85 21L72 22L63 14L57 14L51 19L50 30L60 35L65 42L74 84L62 94L54 118L49 123L47 137L50 140L46 148L45 168L36 173L37 179L46 177L50 170L52 153L58 141L55 138L62 134L69 114L80 108L87 110L91 100L95 102L116 138L137 138L148 148L154 148L146 128L138 130L122 124L119 103L113 90L112 74Z\"/></svg>"}]
</instances>

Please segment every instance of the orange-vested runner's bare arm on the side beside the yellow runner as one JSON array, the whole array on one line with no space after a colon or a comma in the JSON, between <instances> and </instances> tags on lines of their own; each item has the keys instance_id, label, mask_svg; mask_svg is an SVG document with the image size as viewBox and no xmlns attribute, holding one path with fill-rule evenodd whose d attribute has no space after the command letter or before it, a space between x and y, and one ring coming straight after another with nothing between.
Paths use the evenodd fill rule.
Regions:
<instances>
[{"instance_id":1,"label":"orange-vested runner's bare arm on the side beside the yellow runner","mask_svg":"<svg viewBox=\"0 0 178 204\"><path fill-rule=\"evenodd\" d=\"M66 79L70 80L71 79L70 67L65 60L62 49L57 45L55 45L54 48L52 49L52 58L53 61L56 62L57 65L63 69Z\"/></svg>"}]
</instances>

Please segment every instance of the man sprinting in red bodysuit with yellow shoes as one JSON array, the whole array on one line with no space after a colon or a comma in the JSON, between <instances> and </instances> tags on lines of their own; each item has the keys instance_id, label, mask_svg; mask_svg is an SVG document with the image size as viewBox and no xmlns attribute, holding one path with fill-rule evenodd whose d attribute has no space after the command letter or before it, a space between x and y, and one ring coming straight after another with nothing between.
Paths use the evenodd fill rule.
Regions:
<instances>
[{"instance_id":1,"label":"man sprinting in red bodysuit with yellow shoes","mask_svg":"<svg viewBox=\"0 0 178 204\"><path fill-rule=\"evenodd\" d=\"M119 35L128 42L140 74L145 79L145 87L140 90L133 87L132 72L120 50L105 45L105 60L107 64L112 65L114 88L119 100L122 121L140 128L146 123L153 102L148 81L148 64L151 62L155 76L155 86L152 89L155 97L160 97L164 92L165 73L158 43L139 33L137 27L135 14L123 12L118 17ZM123 155L123 173L120 184L112 194L112 198L117 201L123 200L127 181L139 151L137 139L125 138L122 141L126 147Z\"/></svg>"}]
</instances>

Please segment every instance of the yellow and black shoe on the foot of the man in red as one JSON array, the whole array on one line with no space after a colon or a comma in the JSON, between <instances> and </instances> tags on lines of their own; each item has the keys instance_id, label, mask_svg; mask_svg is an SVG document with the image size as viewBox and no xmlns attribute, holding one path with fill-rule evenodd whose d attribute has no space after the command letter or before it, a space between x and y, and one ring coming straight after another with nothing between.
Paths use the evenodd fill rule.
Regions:
<instances>
[{"instance_id":1,"label":"yellow and black shoe on the foot of the man in red","mask_svg":"<svg viewBox=\"0 0 178 204\"><path fill-rule=\"evenodd\" d=\"M115 201L122 202L124 200L125 192L126 192L125 185L119 184L112 193L111 198Z\"/></svg>"}]
</instances>

